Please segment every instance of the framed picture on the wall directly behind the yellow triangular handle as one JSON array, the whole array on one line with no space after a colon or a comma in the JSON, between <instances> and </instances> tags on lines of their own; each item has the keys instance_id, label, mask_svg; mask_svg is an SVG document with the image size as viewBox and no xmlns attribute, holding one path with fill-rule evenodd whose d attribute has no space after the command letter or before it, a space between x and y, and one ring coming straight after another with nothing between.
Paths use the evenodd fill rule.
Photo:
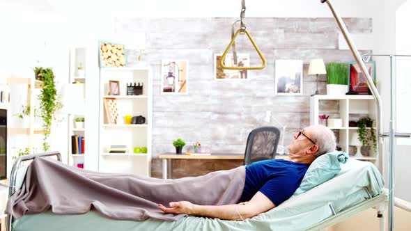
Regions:
<instances>
[{"instance_id":1,"label":"framed picture on the wall directly behind the yellow triangular handle","mask_svg":"<svg viewBox=\"0 0 411 231\"><path fill-rule=\"evenodd\" d=\"M233 54L226 54L224 64L227 67L249 67L249 54L237 54L237 65L234 65ZM247 80L247 70L226 70L219 65L222 54L214 55L214 79L215 80Z\"/></svg>"}]
</instances>

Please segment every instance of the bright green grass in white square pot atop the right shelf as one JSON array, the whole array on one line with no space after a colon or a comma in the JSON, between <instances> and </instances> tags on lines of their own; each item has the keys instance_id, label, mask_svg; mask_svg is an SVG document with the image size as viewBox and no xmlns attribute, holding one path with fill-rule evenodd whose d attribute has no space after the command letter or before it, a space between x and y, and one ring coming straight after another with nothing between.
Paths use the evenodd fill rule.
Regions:
<instances>
[{"instance_id":1,"label":"bright green grass in white square pot atop the right shelf","mask_svg":"<svg viewBox=\"0 0 411 231\"><path fill-rule=\"evenodd\" d=\"M348 92L348 65L327 63L327 95L346 95Z\"/></svg>"}]
</instances>

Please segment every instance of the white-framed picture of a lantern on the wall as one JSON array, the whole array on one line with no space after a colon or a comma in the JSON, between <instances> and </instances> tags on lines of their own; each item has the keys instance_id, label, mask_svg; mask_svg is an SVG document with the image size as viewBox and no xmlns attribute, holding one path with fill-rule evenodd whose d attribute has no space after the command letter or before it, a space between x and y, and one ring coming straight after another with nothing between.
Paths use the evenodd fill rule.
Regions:
<instances>
[{"instance_id":1,"label":"white-framed picture of a lantern on the wall","mask_svg":"<svg viewBox=\"0 0 411 231\"><path fill-rule=\"evenodd\" d=\"M161 68L161 93L187 95L188 61L162 60Z\"/></svg>"}]
</instances>

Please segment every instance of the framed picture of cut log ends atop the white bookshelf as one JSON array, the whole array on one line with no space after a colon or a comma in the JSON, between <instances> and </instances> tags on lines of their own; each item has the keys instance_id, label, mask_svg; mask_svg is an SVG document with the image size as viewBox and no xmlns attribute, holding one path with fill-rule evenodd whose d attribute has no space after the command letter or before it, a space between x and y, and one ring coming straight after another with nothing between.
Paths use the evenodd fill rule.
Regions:
<instances>
[{"instance_id":1,"label":"framed picture of cut log ends atop the white bookshelf","mask_svg":"<svg viewBox=\"0 0 411 231\"><path fill-rule=\"evenodd\" d=\"M100 67L125 67L125 47L113 42L99 42Z\"/></svg>"}]
</instances>

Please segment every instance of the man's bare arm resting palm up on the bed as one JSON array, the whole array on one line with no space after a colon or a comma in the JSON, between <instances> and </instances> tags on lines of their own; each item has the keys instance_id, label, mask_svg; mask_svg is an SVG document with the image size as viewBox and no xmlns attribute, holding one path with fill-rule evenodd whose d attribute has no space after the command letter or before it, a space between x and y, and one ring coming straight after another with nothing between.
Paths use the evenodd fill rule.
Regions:
<instances>
[{"instance_id":1,"label":"man's bare arm resting palm up on the bed","mask_svg":"<svg viewBox=\"0 0 411 231\"><path fill-rule=\"evenodd\" d=\"M257 192L249 202L239 205L194 205L188 201L180 201L170 202L171 208L166 208L164 205L158 205L158 207L169 214L189 214L241 221L267 212L275 205L263 193Z\"/></svg>"}]
</instances>

